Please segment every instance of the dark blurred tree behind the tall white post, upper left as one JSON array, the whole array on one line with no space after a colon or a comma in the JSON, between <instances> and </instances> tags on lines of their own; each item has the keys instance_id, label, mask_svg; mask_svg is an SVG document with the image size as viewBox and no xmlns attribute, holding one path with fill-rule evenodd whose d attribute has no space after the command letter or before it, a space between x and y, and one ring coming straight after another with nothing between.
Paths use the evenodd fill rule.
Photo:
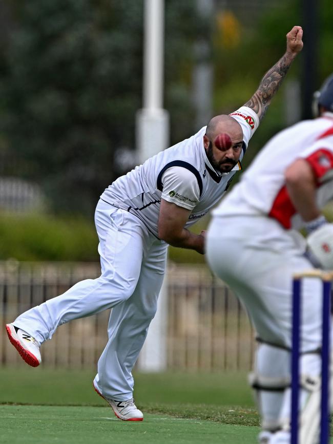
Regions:
<instances>
[{"instance_id":1,"label":"dark blurred tree behind the tall white post, upper left","mask_svg":"<svg viewBox=\"0 0 333 444\"><path fill-rule=\"evenodd\" d=\"M12 26L0 61L2 137L54 210L91 214L120 173L116 149L134 147L143 1L3 1ZM166 101L171 113L187 111L174 121L176 133L191 126L194 14L190 0L168 2Z\"/></svg>"}]
</instances>

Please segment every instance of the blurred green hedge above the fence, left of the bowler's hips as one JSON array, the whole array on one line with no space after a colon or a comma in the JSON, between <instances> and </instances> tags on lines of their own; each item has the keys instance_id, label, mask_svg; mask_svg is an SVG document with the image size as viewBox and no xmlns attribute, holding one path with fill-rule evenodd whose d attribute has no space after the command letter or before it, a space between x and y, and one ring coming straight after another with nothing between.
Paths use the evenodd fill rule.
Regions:
<instances>
[{"instance_id":1,"label":"blurred green hedge above the fence, left of the bowler's hips","mask_svg":"<svg viewBox=\"0 0 333 444\"><path fill-rule=\"evenodd\" d=\"M2 215L0 238L0 260L99 260L95 227L83 219Z\"/></svg>"}]
</instances>

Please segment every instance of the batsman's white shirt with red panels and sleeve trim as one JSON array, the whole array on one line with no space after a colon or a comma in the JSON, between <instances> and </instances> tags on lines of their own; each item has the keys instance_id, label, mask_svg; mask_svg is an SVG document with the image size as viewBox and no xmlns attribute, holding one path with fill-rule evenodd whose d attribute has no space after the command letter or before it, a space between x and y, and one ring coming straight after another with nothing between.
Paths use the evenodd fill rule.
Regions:
<instances>
[{"instance_id":1,"label":"batsman's white shirt with red panels and sleeve trim","mask_svg":"<svg viewBox=\"0 0 333 444\"><path fill-rule=\"evenodd\" d=\"M214 216L269 216L284 228L303 221L288 196L284 172L306 159L317 178L317 204L333 199L333 114L304 120L278 133L263 147L242 180L214 210Z\"/></svg>"}]
</instances>

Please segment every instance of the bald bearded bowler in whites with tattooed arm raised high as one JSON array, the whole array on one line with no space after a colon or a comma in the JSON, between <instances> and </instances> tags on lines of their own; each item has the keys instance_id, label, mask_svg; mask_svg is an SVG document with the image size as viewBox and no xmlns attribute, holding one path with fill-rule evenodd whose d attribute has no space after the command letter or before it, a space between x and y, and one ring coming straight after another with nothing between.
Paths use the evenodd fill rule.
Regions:
<instances>
[{"instance_id":1,"label":"bald bearded bowler in whites with tattooed arm raised high","mask_svg":"<svg viewBox=\"0 0 333 444\"><path fill-rule=\"evenodd\" d=\"M120 419L142 420L133 401L132 369L156 312L168 244L204 253L204 232L195 235L188 227L219 201L241 169L249 139L303 47L302 34L299 26L287 34L285 54L243 107L214 117L105 190L95 213L101 276L7 325L11 343L28 364L39 365L39 346L59 325L112 308L94 388Z\"/></svg>"}]
</instances>

